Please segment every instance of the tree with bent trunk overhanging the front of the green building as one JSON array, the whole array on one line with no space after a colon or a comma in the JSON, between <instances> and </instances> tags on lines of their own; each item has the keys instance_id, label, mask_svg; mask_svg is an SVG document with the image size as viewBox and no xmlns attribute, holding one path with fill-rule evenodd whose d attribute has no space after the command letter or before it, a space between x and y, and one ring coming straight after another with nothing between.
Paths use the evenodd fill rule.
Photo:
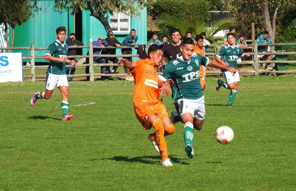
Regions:
<instances>
[{"instance_id":1,"label":"tree with bent trunk overhanging the front of the green building","mask_svg":"<svg viewBox=\"0 0 296 191\"><path fill-rule=\"evenodd\" d=\"M72 11L72 15L83 10L89 10L90 15L98 19L107 33L111 32L108 22L109 13L124 12L127 15L140 15L139 8L146 6L146 0L54 0L55 8L60 10L66 9ZM106 16L107 15L107 16Z\"/></svg>"}]
</instances>

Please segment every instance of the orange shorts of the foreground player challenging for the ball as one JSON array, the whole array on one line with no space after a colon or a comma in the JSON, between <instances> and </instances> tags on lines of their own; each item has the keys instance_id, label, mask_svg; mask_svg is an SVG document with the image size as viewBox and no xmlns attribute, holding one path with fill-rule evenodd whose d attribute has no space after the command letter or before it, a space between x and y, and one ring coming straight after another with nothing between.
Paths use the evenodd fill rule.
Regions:
<instances>
[{"instance_id":1,"label":"orange shorts of the foreground player challenging for the ball","mask_svg":"<svg viewBox=\"0 0 296 191\"><path fill-rule=\"evenodd\" d=\"M141 103L135 108L135 114L138 121L142 124L145 130L148 130L152 127L149 125L149 120L154 114L156 114L160 120L166 116L169 116L161 100L158 100L158 102L155 104Z\"/></svg>"}]
</instances>

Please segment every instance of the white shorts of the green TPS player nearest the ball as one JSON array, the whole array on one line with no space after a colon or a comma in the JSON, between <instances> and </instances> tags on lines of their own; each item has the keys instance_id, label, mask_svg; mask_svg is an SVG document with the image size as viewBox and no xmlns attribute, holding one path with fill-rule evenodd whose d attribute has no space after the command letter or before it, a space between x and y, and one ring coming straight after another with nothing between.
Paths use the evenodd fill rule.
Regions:
<instances>
[{"instance_id":1,"label":"white shorts of the green TPS player nearest the ball","mask_svg":"<svg viewBox=\"0 0 296 191\"><path fill-rule=\"evenodd\" d=\"M206 118L205 97L199 99L179 99L180 114L191 113L194 119L204 120Z\"/></svg>"}]
</instances>

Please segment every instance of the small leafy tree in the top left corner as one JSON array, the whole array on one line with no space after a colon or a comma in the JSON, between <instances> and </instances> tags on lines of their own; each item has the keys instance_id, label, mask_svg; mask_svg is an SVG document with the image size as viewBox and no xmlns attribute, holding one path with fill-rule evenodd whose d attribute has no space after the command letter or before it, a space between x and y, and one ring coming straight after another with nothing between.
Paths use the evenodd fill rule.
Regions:
<instances>
[{"instance_id":1,"label":"small leafy tree in the top left corner","mask_svg":"<svg viewBox=\"0 0 296 191\"><path fill-rule=\"evenodd\" d=\"M14 28L27 21L32 15L29 0L0 0L0 23L5 27L7 47L13 47ZM9 45L8 26L12 28L11 43Z\"/></svg>"}]
</instances>

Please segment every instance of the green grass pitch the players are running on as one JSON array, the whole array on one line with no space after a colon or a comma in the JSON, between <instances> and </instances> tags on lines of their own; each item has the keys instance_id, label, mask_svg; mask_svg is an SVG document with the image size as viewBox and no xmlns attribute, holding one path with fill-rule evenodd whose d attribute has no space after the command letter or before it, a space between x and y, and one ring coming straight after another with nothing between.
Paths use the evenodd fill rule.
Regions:
<instances>
[{"instance_id":1,"label":"green grass pitch the players are running on","mask_svg":"<svg viewBox=\"0 0 296 191\"><path fill-rule=\"evenodd\" d=\"M185 154L182 124L166 137L172 167L161 166L152 130L135 117L134 82L71 82L67 122L58 89L31 107L44 81L0 83L0 190L296 190L296 75L241 77L232 108L217 79L206 78L195 157ZM171 97L163 98L172 112ZM231 143L216 141L220 126L234 130Z\"/></svg>"}]
</instances>

